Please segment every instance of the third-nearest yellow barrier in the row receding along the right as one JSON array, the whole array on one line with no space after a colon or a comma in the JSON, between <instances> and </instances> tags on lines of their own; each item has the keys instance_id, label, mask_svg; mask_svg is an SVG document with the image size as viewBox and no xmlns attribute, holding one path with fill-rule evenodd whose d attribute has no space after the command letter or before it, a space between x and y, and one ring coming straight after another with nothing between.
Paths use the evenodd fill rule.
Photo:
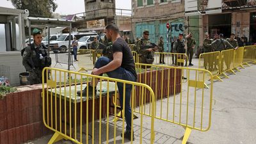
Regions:
<instances>
[{"instance_id":1,"label":"third-nearest yellow barrier in the row receding along the right","mask_svg":"<svg viewBox=\"0 0 256 144\"><path fill-rule=\"evenodd\" d=\"M234 51L234 69L240 71L238 67L243 67L244 47L239 47Z\"/></svg>"}]
</instances>

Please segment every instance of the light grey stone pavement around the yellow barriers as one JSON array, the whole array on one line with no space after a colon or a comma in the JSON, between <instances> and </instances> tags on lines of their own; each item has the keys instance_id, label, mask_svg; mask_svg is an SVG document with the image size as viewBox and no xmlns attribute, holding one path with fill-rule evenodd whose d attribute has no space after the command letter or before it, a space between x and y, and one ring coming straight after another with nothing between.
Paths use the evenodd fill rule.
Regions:
<instances>
[{"instance_id":1,"label":"light grey stone pavement around the yellow barriers","mask_svg":"<svg viewBox=\"0 0 256 144\"><path fill-rule=\"evenodd\" d=\"M74 62L75 65L76 63L77 62ZM193 59L193 63L195 64L193 68L197 68L198 59ZM211 128L207 132L192 130L188 143L256 143L256 65L246 67L244 70L241 69L241 72L236 72L236 75L230 75L229 77L230 79L223 79L223 82L217 81L214 83L213 99L216 103L212 106ZM157 102L157 105L158 104L159 102ZM143 120L145 120L147 124L150 124L149 119L145 118ZM138 130L136 131L136 129L140 127L140 125L136 124L136 122L139 121L140 118L138 120L134 120L135 138L136 136L139 136L138 132L140 132ZM122 143L122 139L119 136L122 129L120 124L118 126L118 132L116 132L116 143ZM150 132L150 125L143 125L143 144L149 143L150 136L148 132ZM155 132L155 143L175 144L181 143L184 129L179 125L156 120ZM44 144L47 143L50 138L51 136L45 136L44 138L31 141L29 144ZM139 143L137 139L134 143ZM71 142L62 140L58 143L69 144ZM95 143L99 142L95 139ZM110 141L110 143L113 143L113 140ZM125 141L125 143L130 142Z\"/></svg>"}]
</instances>

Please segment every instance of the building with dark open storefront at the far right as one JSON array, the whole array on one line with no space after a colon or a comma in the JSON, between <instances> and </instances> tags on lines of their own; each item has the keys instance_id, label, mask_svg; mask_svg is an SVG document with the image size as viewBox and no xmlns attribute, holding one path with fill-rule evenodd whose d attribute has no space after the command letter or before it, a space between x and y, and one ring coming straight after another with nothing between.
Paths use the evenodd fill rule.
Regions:
<instances>
[{"instance_id":1,"label":"building with dark open storefront at the far right","mask_svg":"<svg viewBox=\"0 0 256 144\"><path fill-rule=\"evenodd\" d=\"M256 43L256 0L248 0L244 3L245 5L241 3L230 5L223 2L221 13L196 16L200 35L202 35L200 45L204 40L205 32L210 33L211 36L215 33L223 33L226 38L234 33L236 36L246 37L248 42Z\"/></svg>"}]
</instances>

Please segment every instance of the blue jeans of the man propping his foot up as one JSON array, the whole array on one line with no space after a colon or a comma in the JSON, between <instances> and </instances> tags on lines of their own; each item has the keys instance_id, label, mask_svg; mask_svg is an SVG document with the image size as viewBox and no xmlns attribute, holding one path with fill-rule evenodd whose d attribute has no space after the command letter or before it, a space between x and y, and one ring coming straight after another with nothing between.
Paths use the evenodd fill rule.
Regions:
<instances>
[{"instance_id":1,"label":"blue jeans of the man propping his foot up","mask_svg":"<svg viewBox=\"0 0 256 144\"><path fill-rule=\"evenodd\" d=\"M112 60L102 56L96 61L95 68L104 67L105 65L108 65L110 61ZM122 67L118 67L115 70L111 72L106 72L106 73L108 74L109 77L112 77L115 79L123 79L126 81L136 81L136 77L131 72L129 72L128 70L125 70L125 68L122 68ZM117 87L118 87L121 109L123 109L124 83L117 83ZM132 118L132 110L130 106L131 92L132 92L132 85L125 84L125 108L124 109L125 109L126 131L131 131L131 118Z\"/></svg>"}]
</instances>

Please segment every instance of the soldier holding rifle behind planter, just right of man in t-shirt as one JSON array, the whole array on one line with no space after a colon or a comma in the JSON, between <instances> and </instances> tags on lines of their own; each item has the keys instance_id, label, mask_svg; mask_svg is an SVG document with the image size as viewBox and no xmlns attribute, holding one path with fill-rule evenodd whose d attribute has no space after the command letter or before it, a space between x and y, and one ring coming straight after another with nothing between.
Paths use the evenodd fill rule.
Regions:
<instances>
[{"instance_id":1,"label":"soldier holding rifle behind planter, just right of man in t-shirt","mask_svg":"<svg viewBox=\"0 0 256 144\"><path fill-rule=\"evenodd\" d=\"M158 48L156 44L150 42L148 36L149 31L145 29L143 31L143 37L138 41L136 49L138 49L139 52L139 63L152 64L154 62L154 53Z\"/></svg>"}]
</instances>

